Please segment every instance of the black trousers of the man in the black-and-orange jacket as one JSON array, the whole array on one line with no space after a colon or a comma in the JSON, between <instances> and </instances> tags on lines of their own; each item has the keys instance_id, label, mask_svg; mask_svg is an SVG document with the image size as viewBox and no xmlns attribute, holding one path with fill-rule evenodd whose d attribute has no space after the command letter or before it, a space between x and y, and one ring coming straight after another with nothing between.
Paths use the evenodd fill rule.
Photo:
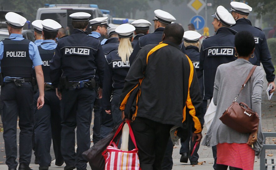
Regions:
<instances>
[{"instance_id":1,"label":"black trousers of the man in the black-and-orange jacket","mask_svg":"<svg viewBox=\"0 0 276 170\"><path fill-rule=\"evenodd\" d=\"M142 170L160 170L172 125L136 117L131 123Z\"/></svg>"}]
</instances>

